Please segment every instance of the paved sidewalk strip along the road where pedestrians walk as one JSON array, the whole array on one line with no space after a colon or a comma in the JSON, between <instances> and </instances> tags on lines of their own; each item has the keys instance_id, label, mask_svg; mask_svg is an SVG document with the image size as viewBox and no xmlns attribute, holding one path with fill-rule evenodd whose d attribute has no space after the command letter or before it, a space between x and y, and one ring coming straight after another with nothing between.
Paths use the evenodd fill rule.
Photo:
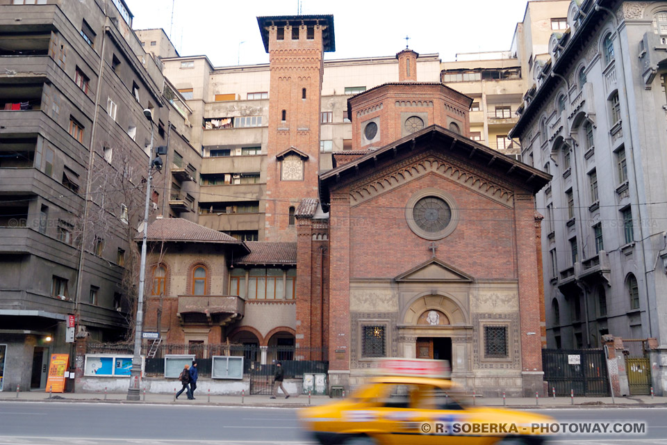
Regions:
<instances>
[{"instance_id":1,"label":"paved sidewalk strip along the road where pedestrians walk","mask_svg":"<svg viewBox=\"0 0 667 445\"><path fill-rule=\"evenodd\" d=\"M107 394L104 393L76 393L76 394L49 394L44 391L19 392L18 398L15 392L0 392L0 401L29 401L29 402L92 402L92 403L153 403L153 404L175 404L175 405L215 405L215 406L248 406L248 407L304 407L308 406L308 396L299 394L286 399L278 396L277 399L271 399L269 396L211 396L208 394L195 394L194 401L188 401L185 394L174 401L173 394L142 394L138 402L126 401L126 394ZM324 405L332 401L329 396L311 396L311 405ZM616 403L611 403L611 397L575 397L574 405L569 397L545 397L539 398L538 405L535 398L507 398L505 404L507 407L522 408L568 408L568 407L667 407L667 397L651 396L627 396L616 397ZM475 398L476 405L502 407L502 398Z\"/></svg>"}]
</instances>

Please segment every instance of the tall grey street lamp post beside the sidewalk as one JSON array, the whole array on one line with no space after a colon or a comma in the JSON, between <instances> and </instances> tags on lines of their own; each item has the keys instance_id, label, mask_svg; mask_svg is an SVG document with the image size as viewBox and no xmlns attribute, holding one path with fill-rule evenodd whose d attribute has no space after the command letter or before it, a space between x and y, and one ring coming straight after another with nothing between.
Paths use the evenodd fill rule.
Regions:
<instances>
[{"instance_id":1,"label":"tall grey street lamp post beside the sidewalk","mask_svg":"<svg viewBox=\"0 0 667 445\"><path fill-rule=\"evenodd\" d=\"M134 330L134 356L130 372L130 386L127 389L127 400L138 401L141 387L141 332L144 322L144 286L146 282L146 238L148 237L148 213L151 204L151 179L153 179L153 113L144 110L144 115L151 121L151 147L148 155L148 179L146 181L146 206L144 209L144 234L141 243L141 261L139 266L139 291L137 296L137 317Z\"/></svg>"}]
</instances>

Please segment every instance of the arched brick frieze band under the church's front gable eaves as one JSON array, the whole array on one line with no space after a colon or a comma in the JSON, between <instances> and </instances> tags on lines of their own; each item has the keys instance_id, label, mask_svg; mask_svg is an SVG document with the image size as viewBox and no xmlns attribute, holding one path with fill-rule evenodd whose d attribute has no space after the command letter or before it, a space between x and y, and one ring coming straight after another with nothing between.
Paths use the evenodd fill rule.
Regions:
<instances>
[{"instance_id":1,"label":"arched brick frieze band under the church's front gable eaves","mask_svg":"<svg viewBox=\"0 0 667 445\"><path fill-rule=\"evenodd\" d=\"M470 168L464 168L434 154L419 159L406 159L398 165L394 165L390 170L372 176L365 184L352 188L349 193L349 204L351 206L362 204L400 187L406 182L433 174L484 195L506 207L514 206L514 192L510 188L496 184L491 179L476 172L472 165L470 165Z\"/></svg>"}]
</instances>

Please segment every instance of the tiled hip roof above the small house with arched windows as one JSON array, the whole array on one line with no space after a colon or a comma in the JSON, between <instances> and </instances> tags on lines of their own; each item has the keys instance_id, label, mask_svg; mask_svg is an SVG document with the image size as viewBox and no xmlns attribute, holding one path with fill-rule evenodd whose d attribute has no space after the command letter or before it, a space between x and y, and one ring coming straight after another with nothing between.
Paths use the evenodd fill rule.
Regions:
<instances>
[{"instance_id":1,"label":"tiled hip roof above the small house with arched windows","mask_svg":"<svg viewBox=\"0 0 667 445\"><path fill-rule=\"evenodd\" d=\"M141 238L141 234L137 238ZM217 230L192 223L183 218L158 218L148 226L148 239L151 241L189 241L191 243L231 243L242 244Z\"/></svg>"}]
</instances>

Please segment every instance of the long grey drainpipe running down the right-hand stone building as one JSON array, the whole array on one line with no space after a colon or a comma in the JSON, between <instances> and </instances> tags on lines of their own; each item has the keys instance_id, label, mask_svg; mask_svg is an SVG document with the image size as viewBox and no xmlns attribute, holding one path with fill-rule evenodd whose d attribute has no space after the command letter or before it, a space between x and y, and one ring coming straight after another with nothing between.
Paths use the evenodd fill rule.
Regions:
<instances>
[{"instance_id":1,"label":"long grey drainpipe running down the right-hand stone building","mask_svg":"<svg viewBox=\"0 0 667 445\"><path fill-rule=\"evenodd\" d=\"M618 19L616 19L616 15L614 14L614 11L612 11L609 8L605 8L604 6L600 6L600 0L595 2L595 10L604 10L605 12L609 13L609 16L611 16L611 19L614 20L614 26L616 26L616 37L618 37L618 56L620 56L620 78L623 79L622 82L618 83L618 88L620 90L623 90L623 99L625 99L625 105L624 105L624 111L625 115L627 115L627 133L629 135L629 138L627 138L627 144L625 145L626 149L629 149L630 153L632 156L630 156L630 159L632 159L632 175L634 176L634 187L631 187L632 189L632 199L634 202L636 202L636 207L637 207L637 217L639 218L639 244L641 246L641 260L642 260L642 268L643 268L643 273L644 273L644 288L646 291L646 316L648 317L648 337L653 337L653 328L651 325L651 307L650 307L650 297L649 297L649 292L648 292L648 271L646 270L646 250L644 248L644 226L641 221L641 205L639 204L639 191L637 190L637 168L635 165L635 159L634 159L634 145L632 143L632 125L630 124L630 111L629 111L629 102L627 99L627 89L625 88L625 63L623 61L623 44L620 42L620 24L618 23ZM625 128L624 128L625 130ZM631 204L632 206L632 204ZM634 241L634 240L633 240Z\"/></svg>"}]
</instances>

